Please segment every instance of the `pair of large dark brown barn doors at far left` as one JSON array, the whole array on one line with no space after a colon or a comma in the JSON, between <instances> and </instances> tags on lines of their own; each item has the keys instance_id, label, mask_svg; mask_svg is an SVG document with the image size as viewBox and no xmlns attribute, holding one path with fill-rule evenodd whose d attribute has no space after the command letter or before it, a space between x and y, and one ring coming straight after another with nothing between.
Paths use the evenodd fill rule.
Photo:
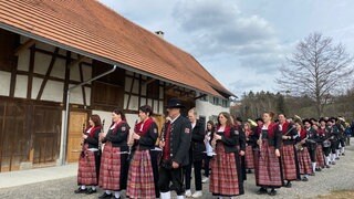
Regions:
<instances>
[{"instance_id":1,"label":"pair of large dark brown barn doors at far left","mask_svg":"<svg viewBox=\"0 0 354 199\"><path fill-rule=\"evenodd\" d=\"M62 111L25 101L0 101L0 171L21 165L55 165L60 151Z\"/></svg>"}]
</instances>

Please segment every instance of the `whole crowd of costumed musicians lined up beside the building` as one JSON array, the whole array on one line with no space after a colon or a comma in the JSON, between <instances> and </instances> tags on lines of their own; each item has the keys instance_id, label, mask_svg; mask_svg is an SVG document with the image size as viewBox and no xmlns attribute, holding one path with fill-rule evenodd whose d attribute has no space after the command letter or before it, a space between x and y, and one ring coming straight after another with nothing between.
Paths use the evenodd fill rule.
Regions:
<instances>
[{"instance_id":1,"label":"whole crowd of costumed musicians lined up beside the building","mask_svg":"<svg viewBox=\"0 0 354 199\"><path fill-rule=\"evenodd\" d=\"M243 181L254 174L257 193L275 196L275 189L308 181L335 165L352 133L342 117L316 121L280 113L274 118L264 112L261 118L242 122L221 112L217 123L209 121L205 127L196 108L181 116L177 98L166 108L162 130L148 105L139 107L132 129L119 109L113 111L106 133L100 116L92 115L83 132L75 193L91 195L101 187L101 199L121 198L122 190L136 199L168 199L170 191L178 199L200 198L202 184L209 184L215 198L233 198L244 193Z\"/></svg>"}]
</instances>

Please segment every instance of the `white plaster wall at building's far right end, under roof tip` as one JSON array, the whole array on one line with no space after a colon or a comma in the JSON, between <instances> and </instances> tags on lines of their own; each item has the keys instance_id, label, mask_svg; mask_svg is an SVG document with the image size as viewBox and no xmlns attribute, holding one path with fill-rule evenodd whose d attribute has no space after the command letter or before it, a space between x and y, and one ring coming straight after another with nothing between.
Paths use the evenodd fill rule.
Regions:
<instances>
[{"instance_id":1,"label":"white plaster wall at building's far right end, under roof tip","mask_svg":"<svg viewBox=\"0 0 354 199\"><path fill-rule=\"evenodd\" d=\"M230 112L228 107L217 106L209 102L199 101L199 100L196 101L196 108L197 108L198 116L205 116L206 122L209 121L210 116L219 115L220 112L228 112L228 113Z\"/></svg>"}]
</instances>

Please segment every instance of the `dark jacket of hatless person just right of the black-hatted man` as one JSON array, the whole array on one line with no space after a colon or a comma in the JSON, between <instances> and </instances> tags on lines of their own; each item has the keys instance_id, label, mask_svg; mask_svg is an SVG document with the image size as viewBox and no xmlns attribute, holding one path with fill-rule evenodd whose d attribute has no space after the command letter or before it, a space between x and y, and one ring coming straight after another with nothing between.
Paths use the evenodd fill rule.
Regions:
<instances>
[{"instance_id":1,"label":"dark jacket of hatless person just right of the black-hatted man","mask_svg":"<svg viewBox=\"0 0 354 199\"><path fill-rule=\"evenodd\" d=\"M196 126L191 130L191 144L190 144L190 151L192 161L200 161L204 159L206 145L204 143L206 133L205 133L205 125L197 121Z\"/></svg>"}]
</instances>

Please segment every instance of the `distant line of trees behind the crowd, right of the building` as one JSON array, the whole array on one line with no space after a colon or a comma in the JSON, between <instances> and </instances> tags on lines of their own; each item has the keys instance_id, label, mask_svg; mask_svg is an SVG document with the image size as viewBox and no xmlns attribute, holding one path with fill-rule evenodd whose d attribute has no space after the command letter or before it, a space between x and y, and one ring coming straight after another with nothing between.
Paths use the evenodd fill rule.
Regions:
<instances>
[{"instance_id":1,"label":"distant line of trees behind the crowd, right of the building","mask_svg":"<svg viewBox=\"0 0 354 199\"><path fill-rule=\"evenodd\" d=\"M261 117L264 111L275 114L283 113L288 117L299 115L302 118L319 118L316 102L306 96L291 96L289 94L271 92L243 93L241 100L231 106L230 113L243 119ZM343 116L347 121L354 119L354 88L337 96L329 96L323 105L323 116Z\"/></svg>"}]
</instances>

